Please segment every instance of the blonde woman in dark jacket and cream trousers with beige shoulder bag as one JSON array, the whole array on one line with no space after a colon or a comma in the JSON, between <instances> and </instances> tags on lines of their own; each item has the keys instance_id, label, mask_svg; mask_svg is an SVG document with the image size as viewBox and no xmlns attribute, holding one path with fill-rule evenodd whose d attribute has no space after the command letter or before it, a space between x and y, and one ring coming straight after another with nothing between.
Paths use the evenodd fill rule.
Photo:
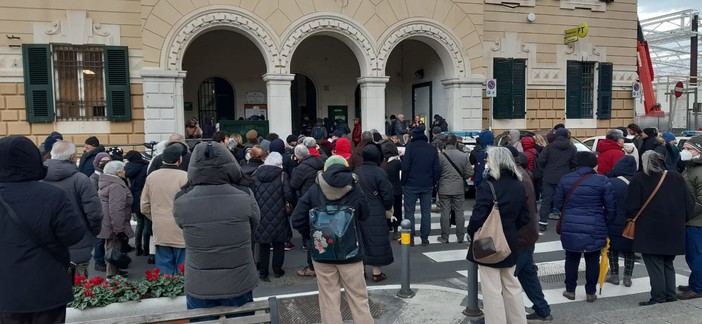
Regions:
<instances>
[{"instance_id":1,"label":"blonde woman in dark jacket and cream trousers with beige shoulder bag","mask_svg":"<svg viewBox=\"0 0 702 324\"><path fill-rule=\"evenodd\" d=\"M496 146L487 148L485 173L485 180L477 189L473 214L466 230L472 241L475 232L490 215L496 198L502 231L512 254L501 262L484 264L475 261L473 245L470 245L466 259L480 265L485 323L526 323L522 286L514 276L518 230L530 220L522 176L517 171L512 153L505 147Z\"/></svg>"}]
</instances>

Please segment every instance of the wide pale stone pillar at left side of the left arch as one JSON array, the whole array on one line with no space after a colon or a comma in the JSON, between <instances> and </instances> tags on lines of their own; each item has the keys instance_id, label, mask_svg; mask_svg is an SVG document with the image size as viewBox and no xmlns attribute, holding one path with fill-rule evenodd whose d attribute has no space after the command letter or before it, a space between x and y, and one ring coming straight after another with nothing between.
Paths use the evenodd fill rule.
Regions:
<instances>
[{"instance_id":1,"label":"wide pale stone pillar at left side of the left arch","mask_svg":"<svg viewBox=\"0 0 702 324\"><path fill-rule=\"evenodd\" d=\"M144 137L147 142L184 134L185 71L141 70L144 86Z\"/></svg>"}]
</instances>

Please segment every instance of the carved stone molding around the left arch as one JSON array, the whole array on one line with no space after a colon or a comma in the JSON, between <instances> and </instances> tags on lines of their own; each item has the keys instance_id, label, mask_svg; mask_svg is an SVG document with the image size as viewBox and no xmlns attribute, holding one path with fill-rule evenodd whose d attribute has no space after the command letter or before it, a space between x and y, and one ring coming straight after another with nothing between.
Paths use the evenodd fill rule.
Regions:
<instances>
[{"instance_id":1,"label":"carved stone molding around the left arch","mask_svg":"<svg viewBox=\"0 0 702 324\"><path fill-rule=\"evenodd\" d=\"M277 43L264 22L254 18L253 15L230 8L207 8L192 16L183 17L178 28L174 28L166 36L163 50L161 50L161 67L167 70L180 70L182 68L185 51L200 34L213 28L229 27L237 29L242 35L261 50L266 61L268 71L276 65Z\"/></svg>"}]
</instances>

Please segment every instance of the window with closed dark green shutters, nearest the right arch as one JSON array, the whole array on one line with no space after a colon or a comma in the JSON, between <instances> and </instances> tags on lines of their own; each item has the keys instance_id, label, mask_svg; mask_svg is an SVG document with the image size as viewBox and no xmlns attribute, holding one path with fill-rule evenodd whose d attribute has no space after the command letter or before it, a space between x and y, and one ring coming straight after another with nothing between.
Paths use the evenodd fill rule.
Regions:
<instances>
[{"instance_id":1,"label":"window with closed dark green shutters, nearest the right arch","mask_svg":"<svg viewBox=\"0 0 702 324\"><path fill-rule=\"evenodd\" d=\"M495 58L493 62L492 75L497 80L493 118L524 118L526 115L526 60Z\"/></svg>"}]
</instances>

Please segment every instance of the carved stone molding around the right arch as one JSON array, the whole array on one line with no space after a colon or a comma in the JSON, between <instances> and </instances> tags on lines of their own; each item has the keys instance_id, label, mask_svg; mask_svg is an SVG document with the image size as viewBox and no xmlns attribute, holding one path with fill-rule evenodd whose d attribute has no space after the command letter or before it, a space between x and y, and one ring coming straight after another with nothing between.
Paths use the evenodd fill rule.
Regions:
<instances>
[{"instance_id":1,"label":"carved stone molding around the right arch","mask_svg":"<svg viewBox=\"0 0 702 324\"><path fill-rule=\"evenodd\" d=\"M465 77L467 71L470 71L470 66L467 66L469 62L463 55L463 44L450 31L436 22L425 19L412 20L388 30L389 33L381 37L380 41L382 45L378 50L378 74L384 75L385 65L392 50L408 38L429 39L429 42L423 41L439 55L444 64L444 73L448 78Z\"/></svg>"}]
</instances>

